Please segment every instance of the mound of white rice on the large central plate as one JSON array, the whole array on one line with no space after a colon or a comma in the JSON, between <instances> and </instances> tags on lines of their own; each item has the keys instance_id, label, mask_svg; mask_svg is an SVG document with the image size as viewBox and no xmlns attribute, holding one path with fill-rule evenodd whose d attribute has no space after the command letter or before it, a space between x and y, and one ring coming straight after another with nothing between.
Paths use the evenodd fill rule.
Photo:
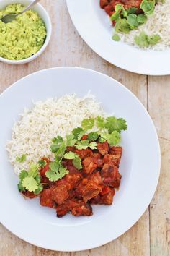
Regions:
<instances>
[{"instance_id":1,"label":"mound of white rice on the large central plate","mask_svg":"<svg viewBox=\"0 0 170 256\"><path fill-rule=\"evenodd\" d=\"M32 109L25 109L20 116L12 128L12 140L6 143L9 162L17 175L22 169L27 170L31 161L36 163L44 156L53 158L50 152L53 137L66 137L81 125L84 118L104 116L104 111L94 95L88 94L84 98L64 95L36 102ZM16 157L22 154L27 154L27 159L19 163Z\"/></svg>"}]
</instances>

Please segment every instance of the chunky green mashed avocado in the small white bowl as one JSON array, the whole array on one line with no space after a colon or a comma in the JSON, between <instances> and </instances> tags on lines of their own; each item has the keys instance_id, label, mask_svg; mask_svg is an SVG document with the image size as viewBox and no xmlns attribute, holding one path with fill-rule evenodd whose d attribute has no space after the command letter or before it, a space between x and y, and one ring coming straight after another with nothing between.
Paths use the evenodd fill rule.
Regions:
<instances>
[{"instance_id":1,"label":"chunky green mashed avocado in the small white bowl","mask_svg":"<svg viewBox=\"0 0 170 256\"><path fill-rule=\"evenodd\" d=\"M18 14L23 9L22 4L10 4L0 11L0 19L4 14ZM44 22L32 10L7 24L0 20L0 56L12 60L26 59L42 48L46 34Z\"/></svg>"}]
</instances>

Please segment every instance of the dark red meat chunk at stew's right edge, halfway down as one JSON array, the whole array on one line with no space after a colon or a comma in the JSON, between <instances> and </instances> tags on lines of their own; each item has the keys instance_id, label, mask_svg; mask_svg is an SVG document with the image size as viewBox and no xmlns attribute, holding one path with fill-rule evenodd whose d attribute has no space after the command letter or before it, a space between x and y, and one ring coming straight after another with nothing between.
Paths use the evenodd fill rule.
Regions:
<instances>
[{"instance_id":1,"label":"dark red meat chunk at stew's right edge, halfway down","mask_svg":"<svg viewBox=\"0 0 170 256\"><path fill-rule=\"evenodd\" d=\"M105 163L102 171L102 181L105 185L110 187L119 187L121 181L121 174L118 171L117 166Z\"/></svg>"}]
</instances>

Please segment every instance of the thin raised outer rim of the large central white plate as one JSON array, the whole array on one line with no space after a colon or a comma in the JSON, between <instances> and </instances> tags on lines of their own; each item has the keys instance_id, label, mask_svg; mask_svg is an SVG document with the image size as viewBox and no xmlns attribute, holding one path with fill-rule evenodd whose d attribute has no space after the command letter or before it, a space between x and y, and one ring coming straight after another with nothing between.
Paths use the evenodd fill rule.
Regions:
<instances>
[{"instance_id":1,"label":"thin raised outer rim of the large central white plate","mask_svg":"<svg viewBox=\"0 0 170 256\"><path fill-rule=\"evenodd\" d=\"M19 80L15 81L12 85L10 85L8 88L6 88L6 90L4 90L4 91L0 94L0 101L1 101L1 96L3 96L4 93L6 93L7 90L10 90L10 88L12 88L13 86L16 86L16 85L17 85L17 82L19 82L19 81L21 81L21 80L24 80L24 79L27 79L27 77L30 77L30 76L32 76L32 75L34 75L34 74L37 74L37 73L40 73L40 72L44 72L44 71L48 71L48 70L50 70L50 69L81 69L81 70L85 70L85 71L87 71L87 72L94 72L94 73L97 73L97 74L99 74L99 75L102 74L102 76L107 77L107 79L109 78L110 80L115 81L115 82L116 82L117 84L119 84L120 87L122 87L124 90L128 90L128 93L130 93L130 94L135 98L135 100L138 101L138 103L140 104L140 106L143 108L143 111L145 112L145 114L149 117L149 119L150 119L150 121L151 121L151 124L152 124L153 131L154 131L154 133L155 133L155 135L156 135L156 143L157 143L157 145L158 145L158 155L159 155L159 158L158 158L158 175L157 175L157 177L156 177L156 187L157 187L157 185L158 185L158 179L159 179L159 176L160 176L160 169L161 169L161 149L160 149L160 144L159 144L159 140L158 140L158 135L157 135L157 132L156 132L156 127L155 127L155 125L153 124L153 120L151 119L151 116L148 114L148 111L146 110L145 106L143 106L143 103L140 102L140 100L138 99L138 97L137 97L135 94L133 94L128 88L126 88L125 85L122 85L122 83L120 83L119 81L115 80L115 79L112 78L112 77L109 77L109 75L103 74L102 72L98 72L98 71L95 71L95 70L93 70L93 69L87 69L87 68L84 68L84 67L69 67L69 66L68 66L68 67L52 67L52 68L48 68L48 69L42 69L42 70L39 70L39 71L37 71L37 72L33 72L33 73L31 73L31 74L28 74L27 76L22 77L22 78L20 78ZM154 189L152 198L153 198L153 196L154 196L154 194L155 194L155 192L156 192L156 187L155 187L155 189ZM151 200L152 200L152 198L151 198ZM138 220L141 218L141 216L143 216L143 213L145 213L146 209L148 208L148 205L151 203L151 200L149 200L149 203L147 203L147 207L146 207L146 208L143 210L143 212L140 214L140 217L138 218ZM136 220L135 223L136 223L138 220ZM1 221L1 220L0 220L0 221ZM133 225L134 225L135 223L133 223ZM58 249L54 249L54 248L51 248L51 247L42 246L42 245L40 245L40 244L37 244L36 242L35 242L35 243L30 242L29 239L25 239L25 238L22 238L22 236L19 236L19 235L17 234L17 232L11 231L11 229L9 229L9 227L6 227L6 225L3 223L3 221L1 221L1 224L2 224L6 229L8 229L10 232L12 232L12 234L14 234L15 236L19 237L19 239L22 239L22 240L25 241L25 242L28 242L28 243L30 243L30 244L33 244L33 245L35 245L35 246L37 246L37 247L42 247L42 248L44 248L44 249L50 249L50 250L55 250L55 251L60 251L60 252L61 252L61 251L62 251L62 252L77 252L77 251L84 251L84 250L86 250L86 249L94 249L94 248L97 248L97 247L99 247L99 246L102 246L102 245L104 245L104 244L107 244L107 243L109 243L109 242L114 241L115 239L117 239L117 237L120 237L120 236L122 236L122 234L125 234L125 232L128 231L128 230L133 226L133 225L132 225L132 226L128 227L128 229L126 229L121 235L116 236L115 239L107 240L107 242L104 242L104 243L102 243L102 244L101 244L101 243L97 244L97 242L96 242L97 245L94 246L94 247L84 247L84 248L82 248L82 249L79 249L79 248L78 248L78 249L74 249L74 250L68 250L68 249L58 250Z\"/></svg>"}]
</instances>

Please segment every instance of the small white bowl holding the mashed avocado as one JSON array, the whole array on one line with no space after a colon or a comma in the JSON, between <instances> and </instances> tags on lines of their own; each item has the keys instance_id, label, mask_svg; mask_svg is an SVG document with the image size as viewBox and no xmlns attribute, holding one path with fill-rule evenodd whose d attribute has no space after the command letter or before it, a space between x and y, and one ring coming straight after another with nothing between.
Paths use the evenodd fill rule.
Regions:
<instances>
[{"instance_id":1,"label":"small white bowl holding the mashed avocado","mask_svg":"<svg viewBox=\"0 0 170 256\"><path fill-rule=\"evenodd\" d=\"M31 0L0 0L0 9L4 9L7 5L9 4L23 4L27 6L30 4L32 1ZM37 51L36 54L30 56L29 58L26 59L21 59L21 60L10 60L10 59L4 59L0 57L0 61L7 63L7 64L24 64L30 61L33 61L36 59L40 54L42 54L43 51L45 51L45 48L48 46L48 43L50 41L50 36L51 36L51 31L52 31L52 25L50 21L50 17L48 15L48 12L45 10L44 7L42 7L41 4L35 4L35 7L32 7L35 12L37 12L42 20L45 22L46 30L47 30L47 36L45 38L45 43L43 44L42 48L40 48L39 51Z\"/></svg>"}]
</instances>

